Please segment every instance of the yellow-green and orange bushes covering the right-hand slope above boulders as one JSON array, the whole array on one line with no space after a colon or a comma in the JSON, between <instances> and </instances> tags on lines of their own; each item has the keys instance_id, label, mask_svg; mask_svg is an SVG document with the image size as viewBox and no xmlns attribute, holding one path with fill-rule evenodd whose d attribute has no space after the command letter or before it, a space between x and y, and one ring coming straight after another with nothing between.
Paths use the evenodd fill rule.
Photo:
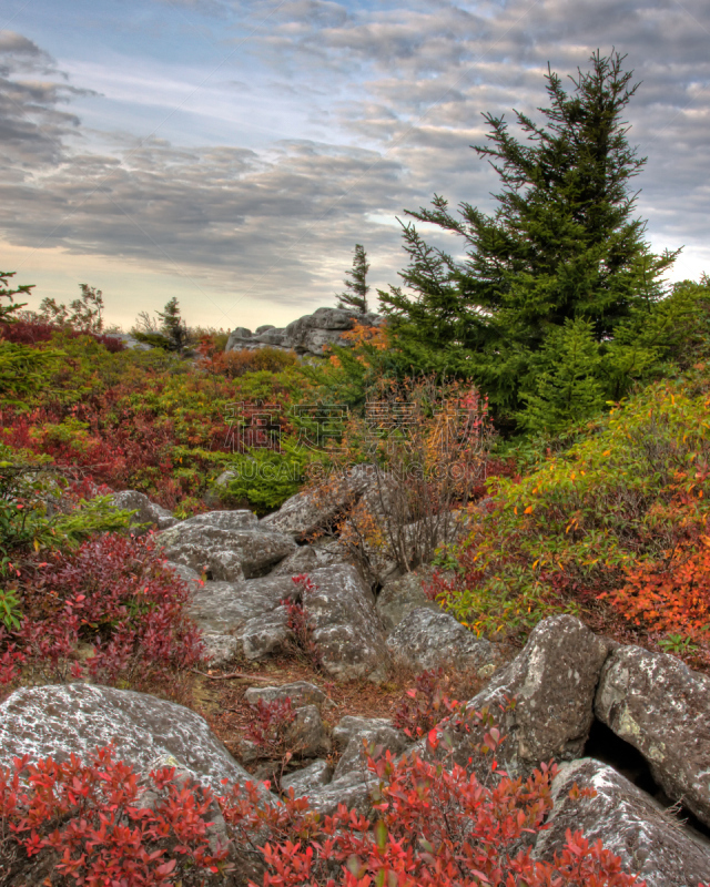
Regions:
<instances>
[{"instance_id":1,"label":"yellow-green and orange bushes covering the right-hand slope above boulders","mask_svg":"<svg viewBox=\"0 0 710 887\"><path fill-rule=\"evenodd\" d=\"M456 577L436 578L432 595L478 634L521 636L550 612L598 613L602 600L642 631L692 629L707 643L709 427L699 371L617 406L528 476L494 479L448 552Z\"/></svg>"}]
</instances>

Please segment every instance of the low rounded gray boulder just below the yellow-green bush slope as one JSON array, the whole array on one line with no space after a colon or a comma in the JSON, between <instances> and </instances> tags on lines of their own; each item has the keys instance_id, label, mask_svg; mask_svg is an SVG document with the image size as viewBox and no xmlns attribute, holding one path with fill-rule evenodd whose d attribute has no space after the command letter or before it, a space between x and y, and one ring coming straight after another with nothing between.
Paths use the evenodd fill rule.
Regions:
<instances>
[{"instance_id":1,"label":"low rounded gray boulder just below the yellow-green bush slope","mask_svg":"<svg viewBox=\"0 0 710 887\"><path fill-rule=\"evenodd\" d=\"M500 645L491 644L465 629L449 613L418 608L406 615L387 638L393 657L410 669L424 671L454 666L490 676L503 663Z\"/></svg>"}]
</instances>

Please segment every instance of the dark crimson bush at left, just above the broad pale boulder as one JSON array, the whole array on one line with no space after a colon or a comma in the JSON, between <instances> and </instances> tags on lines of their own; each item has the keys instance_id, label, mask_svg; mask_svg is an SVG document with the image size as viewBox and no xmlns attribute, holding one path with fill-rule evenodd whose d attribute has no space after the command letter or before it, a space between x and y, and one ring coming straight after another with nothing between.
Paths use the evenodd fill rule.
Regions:
<instances>
[{"instance_id":1,"label":"dark crimson bush at left, just above the broad pale boulder","mask_svg":"<svg viewBox=\"0 0 710 887\"><path fill-rule=\"evenodd\" d=\"M185 612L190 590L150 536L106 533L75 552L54 552L26 569L16 594L22 620L0 638L2 683L13 682L21 665L24 680L135 684L164 680L203 657Z\"/></svg>"}]
</instances>

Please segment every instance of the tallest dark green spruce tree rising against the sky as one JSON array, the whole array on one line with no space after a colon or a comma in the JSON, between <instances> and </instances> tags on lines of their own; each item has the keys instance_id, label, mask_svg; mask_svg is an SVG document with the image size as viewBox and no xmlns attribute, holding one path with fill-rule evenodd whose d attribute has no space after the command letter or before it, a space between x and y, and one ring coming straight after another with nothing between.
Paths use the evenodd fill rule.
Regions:
<instances>
[{"instance_id":1,"label":"tallest dark green spruce tree rising against the sky","mask_svg":"<svg viewBox=\"0 0 710 887\"><path fill-rule=\"evenodd\" d=\"M475 151L489 160L503 185L493 195L495 213L462 203L454 215L439 195L432 208L408 212L462 237L466 258L456 262L427 245L407 223L409 265L400 276L414 295L400 287L379 290L403 368L474 378L509 430L546 427L545 404L550 429L565 416L578 418L580 392L586 392L582 411L591 410L608 396L612 378L623 394L660 345L647 336L642 359L625 364L615 343L623 328L625 341L633 346L635 330L641 335L648 325L665 295L662 274L678 255L652 255L645 222L633 217L629 183L646 157L629 145L622 121L639 85L630 84L632 72L622 71L625 58L597 51L589 72L578 69L570 77L570 94L548 65L549 106L538 109L545 122L514 112L526 142L509 132L503 116L484 114L489 144ZM556 351L555 343L567 344ZM555 364L564 360L571 363L560 376ZM571 388L565 379L575 380ZM535 418L526 419L528 411Z\"/></svg>"}]
</instances>

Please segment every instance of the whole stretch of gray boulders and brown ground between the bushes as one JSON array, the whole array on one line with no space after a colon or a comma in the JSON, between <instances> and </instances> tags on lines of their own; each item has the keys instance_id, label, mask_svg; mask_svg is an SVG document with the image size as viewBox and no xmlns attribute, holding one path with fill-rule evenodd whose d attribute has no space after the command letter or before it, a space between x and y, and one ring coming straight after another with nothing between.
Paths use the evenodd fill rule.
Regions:
<instances>
[{"instance_id":1,"label":"whole stretch of gray boulders and brown ground between the bushes","mask_svg":"<svg viewBox=\"0 0 710 887\"><path fill-rule=\"evenodd\" d=\"M649 887L708 879L706 675L674 656L595 635L568 615L540 622L519 651L477 639L426 598L430 568L399 575L389 564L373 585L336 544L305 542L337 507L307 493L262 520L241 510L178 522L131 491L116 503L160 530L164 557L193 589L191 612L211 656L209 671L194 675L205 717L131 691L23 689L0 706L1 764L23 753L84 755L114 742L118 756L141 769L169 756L217 789L223 778L275 775L322 813L342 803L367 812L363 740L395 755L410 750L413 740L392 722L394 707L417 672L444 666L452 696L500 713L500 759L510 775L526 777L550 759L560 765L550 827L534 849L539 858L551 858L566 830L580 828ZM303 574L310 583L294 582ZM294 754L275 773L274 761L244 737L258 700L286 697L296 712ZM483 766L471 752L475 735L454 725L450 735L458 763ZM427 753L422 743L418 750ZM596 795L572 799L575 783Z\"/></svg>"}]
</instances>

